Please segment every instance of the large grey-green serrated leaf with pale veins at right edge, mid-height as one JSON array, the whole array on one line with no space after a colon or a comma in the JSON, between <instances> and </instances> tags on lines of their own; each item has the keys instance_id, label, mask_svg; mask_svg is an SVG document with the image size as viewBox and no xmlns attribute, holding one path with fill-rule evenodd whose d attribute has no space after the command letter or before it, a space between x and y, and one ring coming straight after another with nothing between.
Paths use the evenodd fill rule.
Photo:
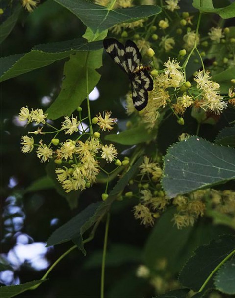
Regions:
<instances>
[{"instance_id":1,"label":"large grey-green serrated leaf with pale veins at right edge, mid-height","mask_svg":"<svg viewBox=\"0 0 235 298\"><path fill-rule=\"evenodd\" d=\"M198 137L176 143L164 157L163 188L170 198L235 178L235 149Z\"/></svg>"}]
</instances>

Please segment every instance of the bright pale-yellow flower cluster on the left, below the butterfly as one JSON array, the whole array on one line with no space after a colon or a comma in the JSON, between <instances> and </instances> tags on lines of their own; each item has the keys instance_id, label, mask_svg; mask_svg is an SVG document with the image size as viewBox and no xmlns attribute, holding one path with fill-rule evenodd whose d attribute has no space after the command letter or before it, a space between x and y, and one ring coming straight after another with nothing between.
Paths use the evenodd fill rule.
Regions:
<instances>
[{"instance_id":1,"label":"bright pale-yellow flower cluster on the left, below the butterfly","mask_svg":"<svg viewBox=\"0 0 235 298\"><path fill-rule=\"evenodd\" d=\"M116 119L110 116L111 112L105 111L103 116L99 113L99 115L92 119L92 122L99 126L99 130L109 131L113 129L113 125L116 123ZM48 145L43 143L43 140L39 140L39 143L36 144L33 137L24 135L21 141L21 151L23 153L29 153L32 152L36 146L36 154L38 158L41 159L42 163L54 159L56 164L61 165L55 172L58 181L66 192L70 192L71 190L84 190L90 187L96 182L96 176L101 170L99 159L104 159L107 163L111 163L116 160L118 151L113 144L102 144L99 139L100 133L98 131L94 134L88 134L86 130L80 131L79 125L81 124L82 126L82 122L79 121L77 117L72 116L70 119L66 116L60 129L51 126L49 121L47 122L45 120L46 118L47 114L44 114L42 109L32 109L30 112L27 107L21 108L19 113L20 121L25 121L27 124L34 122L36 125L41 125L36 131L29 133L35 135L55 135ZM42 125L53 128L53 131L43 132ZM64 142L60 142L60 140L56 138L60 132L69 135L75 133L76 138L74 140L66 139ZM89 137L85 141L82 141L81 137L85 135L89 135ZM62 163L66 163L66 165ZM117 165L121 165L121 163Z\"/></svg>"}]
</instances>

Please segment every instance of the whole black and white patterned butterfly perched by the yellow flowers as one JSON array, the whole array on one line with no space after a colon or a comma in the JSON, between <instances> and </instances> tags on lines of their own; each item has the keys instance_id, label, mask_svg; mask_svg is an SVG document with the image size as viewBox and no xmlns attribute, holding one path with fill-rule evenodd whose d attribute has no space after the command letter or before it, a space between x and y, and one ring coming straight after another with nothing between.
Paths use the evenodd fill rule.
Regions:
<instances>
[{"instance_id":1,"label":"whole black and white patterned butterfly perched by the yellow flowers","mask_svg":"<svg viewBox=\"0 0 235 298\"><path fill-rule=\"evenodd\" d=\"M153 79L141 66L141 53L137 45L127 40L125 46L115 38L104 39L105 51L127 73L131 82L134 107L141 111L148 103L148 91L153 90Z\"/></svg>"}]
</instances>

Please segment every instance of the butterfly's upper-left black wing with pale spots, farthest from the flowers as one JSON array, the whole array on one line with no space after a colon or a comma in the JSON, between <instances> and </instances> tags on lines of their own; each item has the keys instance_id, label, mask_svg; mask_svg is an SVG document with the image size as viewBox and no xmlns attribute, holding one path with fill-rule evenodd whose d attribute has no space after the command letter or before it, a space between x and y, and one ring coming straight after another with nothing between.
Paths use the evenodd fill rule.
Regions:
<instances>
[{"instance_id":1,"label":"butterfly's upper-left black wing with pale spots, farthest from the flowers","mask_svg":"<svg viewBox=\"0 0 235 298\"><path fill-rule=\"evenodd\" d=\"M130 70L127 68L125 47L115 38L106 38L103 41L105 51L110 55L116 64L127 74Z\"/></svg>"}]
</instances>

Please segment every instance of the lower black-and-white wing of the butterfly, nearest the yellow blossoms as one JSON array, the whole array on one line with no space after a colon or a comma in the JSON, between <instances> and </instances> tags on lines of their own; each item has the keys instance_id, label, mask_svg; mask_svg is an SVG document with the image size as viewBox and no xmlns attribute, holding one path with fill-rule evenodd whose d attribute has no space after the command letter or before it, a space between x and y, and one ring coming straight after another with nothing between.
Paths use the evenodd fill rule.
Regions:
<instances>
[{"instance_id":1,"label":"lower black-and-white wing of the butterfly, nearest the yellow blossoms","mask_svg":"<svg viewBox=\"0 0 235 298\"><path fill-rule=\"evenodd\" d=\"M153 90L153 79L147 70L140 70L130 76L134 107L141 111L148 103L148 91Z\"/></svg>"}]
</instances>

